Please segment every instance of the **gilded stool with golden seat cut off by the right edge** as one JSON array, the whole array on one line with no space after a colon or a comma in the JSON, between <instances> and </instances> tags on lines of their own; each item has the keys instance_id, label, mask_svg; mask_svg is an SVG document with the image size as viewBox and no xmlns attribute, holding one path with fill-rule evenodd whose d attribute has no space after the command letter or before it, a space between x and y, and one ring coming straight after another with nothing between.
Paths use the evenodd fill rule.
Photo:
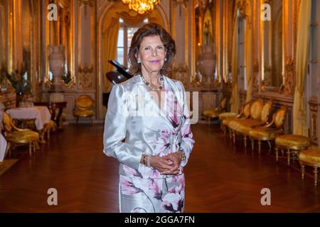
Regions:
<instances>
[{"instance_id":1,"label":"gilded stool with golden seat cut off by the right edge","mask_svg":"<svg viewBox=\"0 0 320 227\"><path fill-rule=\"evenodd\" d=\"M309 148L299 153L299 162L302 169L302 179L304 179L304 166L314 167L314 186L318 182L318 168L320 167L320 148Z\"/></svg>"}]
</instances>

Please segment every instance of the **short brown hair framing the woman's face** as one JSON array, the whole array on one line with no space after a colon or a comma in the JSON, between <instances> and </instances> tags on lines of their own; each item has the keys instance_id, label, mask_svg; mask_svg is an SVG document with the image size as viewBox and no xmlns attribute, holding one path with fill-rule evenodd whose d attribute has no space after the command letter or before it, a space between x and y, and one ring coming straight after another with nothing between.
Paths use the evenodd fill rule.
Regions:
<instances>
[{"instance_id":1,"label":"short brown hair framing the woman's face","mask_svg":"<svg viewBox=\"0 0 320 227\"><path fill-rule=\"evenodd\" d=\"M171 65L174 63L174 56L176 55L176 43L171 35L158 23L146 23L138 29L131 40L129 48L128 59L130 62L130 72L134 75L141 74L141 65L137 61L137 54L139 52L142 39L148 36L159 35L161 42L166 48L166 61L160 70L161 74L168 74L171 71Z\"/></svg>"}]
</instances>

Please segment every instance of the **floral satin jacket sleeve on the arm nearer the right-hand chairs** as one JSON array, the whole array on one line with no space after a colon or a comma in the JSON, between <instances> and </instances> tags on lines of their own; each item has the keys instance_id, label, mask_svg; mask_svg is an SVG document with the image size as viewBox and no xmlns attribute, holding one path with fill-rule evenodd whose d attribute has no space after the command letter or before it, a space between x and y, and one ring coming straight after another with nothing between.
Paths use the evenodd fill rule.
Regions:
<instances>
[{"instance_id":1,"label":"floral satin jacket sleeve on the arm nearer the right-hand chairs","mask_svg":"<svg viewBox=\"0 0 320 227\"><path fill-rule=\"evenodd\" d=\"M181 92L183 96L183 125L181 126L181 144L180 148L183 148L184 153L186 154L186 160L181 161L181 166L185 167L188 159L191 155L194 139L193 133L191 132L191 123L190 123L190 111L188 109L188 102L186 99L186 91L181 82L178 82L179 87L181 87Z\"/></svg>"}]
</instances>

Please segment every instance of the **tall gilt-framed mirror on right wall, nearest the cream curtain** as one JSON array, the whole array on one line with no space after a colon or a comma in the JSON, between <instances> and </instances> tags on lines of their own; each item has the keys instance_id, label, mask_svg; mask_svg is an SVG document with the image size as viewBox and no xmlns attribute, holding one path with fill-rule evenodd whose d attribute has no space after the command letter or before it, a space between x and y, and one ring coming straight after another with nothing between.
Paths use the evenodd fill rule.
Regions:
<instances>
[{"instance_id":1,"label":"tall gilt-framed mirror on right wall, nearest the cream curtain","mask_svg":"<svg viewBox=\"0 0 320 227\"><path fill-rule=\"evenodd\" d=\"M267 1L271 21L261 22L262 91L279 92L284 85L283 2Z\"/></svg>"}]
</instances>

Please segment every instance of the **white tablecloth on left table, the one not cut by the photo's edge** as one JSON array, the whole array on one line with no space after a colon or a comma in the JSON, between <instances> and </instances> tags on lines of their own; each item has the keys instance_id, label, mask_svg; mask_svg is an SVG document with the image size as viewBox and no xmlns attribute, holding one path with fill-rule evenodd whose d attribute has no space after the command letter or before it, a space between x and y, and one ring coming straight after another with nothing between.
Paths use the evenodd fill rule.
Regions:
<instances>
[{"instance_id":1,"label":"white tablecloth on left table, the one not cut by the photo's edge","mask_svg":"<svg viewBox=\"0 0 320 227\"><path fill-rule=\"evenodd\" d=\"M14 119L36 119L37 130L43 129L45 123L49 123L51 114L47 106L34 106L29 108L14 108L6 111Z\"/></svg>"}]
</instances>

